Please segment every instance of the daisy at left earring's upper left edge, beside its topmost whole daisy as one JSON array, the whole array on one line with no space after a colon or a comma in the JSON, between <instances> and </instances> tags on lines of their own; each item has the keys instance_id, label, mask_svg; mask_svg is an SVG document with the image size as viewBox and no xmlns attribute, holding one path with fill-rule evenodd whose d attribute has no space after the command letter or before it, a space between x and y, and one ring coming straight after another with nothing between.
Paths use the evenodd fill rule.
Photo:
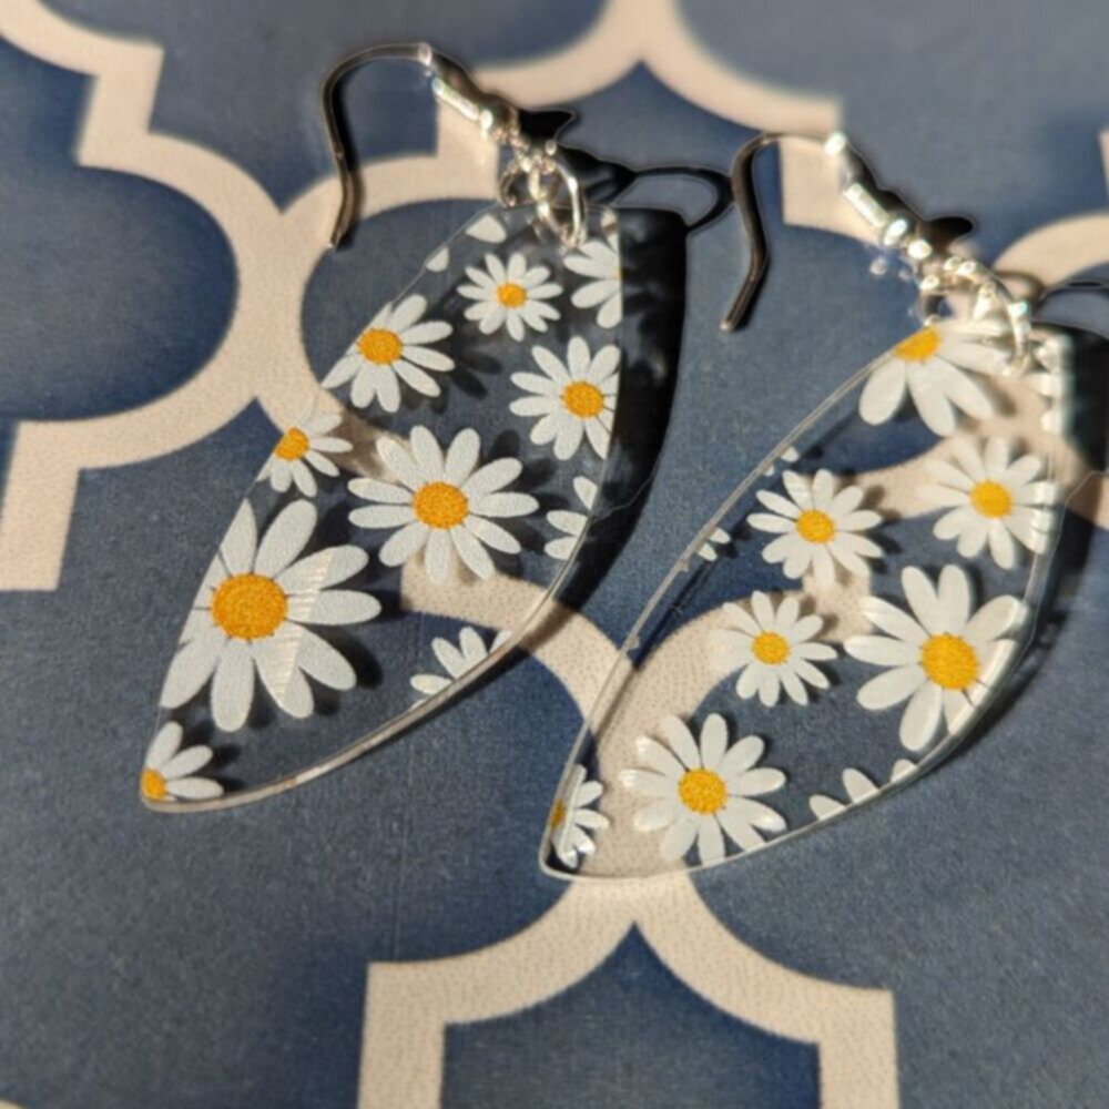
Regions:
<instances>
[{"instance_id":1,"label":"daisy at left earring's upper left edge, beside its topmost whole daisy","mask_svg":"<svg viewBox=\"0 0 1109 1109\"><path fill-rule=\"evenodd\" d=\"M426 372L444 374L455 368L455 360L426 344L445 339L454 328L440 319L420 323L426 309L427 301L418 295L387 304L335 363L324 385L350 381L350 404L365 408L376 397L387 413L400 408L398 378L425 397L437 397L439 383Z\"/></svg>"}]
</instances>

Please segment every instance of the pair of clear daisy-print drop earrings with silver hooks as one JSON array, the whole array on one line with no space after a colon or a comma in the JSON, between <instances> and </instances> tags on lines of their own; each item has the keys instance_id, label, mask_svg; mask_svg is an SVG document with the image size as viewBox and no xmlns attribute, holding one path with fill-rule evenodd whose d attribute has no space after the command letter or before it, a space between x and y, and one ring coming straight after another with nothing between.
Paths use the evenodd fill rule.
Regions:
<instances>
[{"instance_id":1,"label":"pair of clear daisy-print drop earrings with silver hooks","mask_svg":"<svg viewBox=\"0 0 1109 1109\"><path fill-rule=\"evenodd\" d=\"M536 628L604 497L620 397L621 214L572 156L426 44L407 59L509 160L322 381L248 490L170 664L142 800L226 807L407 730ZM766 268L732 169L747 278ZM804 138L804 136L800 136ZM637 620L568 763L541 861L561 876L709 866L913 780L967 735L1032 637L1060 520L1070 350L996 274L812 139L912 277L923 326L746 477Z\"/></svg>"}]
</instances>

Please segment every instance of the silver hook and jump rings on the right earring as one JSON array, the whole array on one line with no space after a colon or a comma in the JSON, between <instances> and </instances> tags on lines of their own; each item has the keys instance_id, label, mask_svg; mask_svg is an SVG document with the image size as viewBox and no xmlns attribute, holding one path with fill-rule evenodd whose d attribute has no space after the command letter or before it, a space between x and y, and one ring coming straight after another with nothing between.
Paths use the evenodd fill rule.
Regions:
<instances>
[{"instance_id":1,"label":"silver hook and jump rings on the right earring","mask_svg":"<svg viewBox=\"0 0 1109 1109\"><path fill-rule=\"evenodd\" d=\"M743 218L751 261L739 295L721 322L722 328L732 330L743 324L766 274L770 254L755 192L754 161L760 151L786 139L816 143L836 164L842 182L840 195L871 227L875 245L896 253L912 273L922 319L933 318L952 296L970 294L975 298L976 315L996 313L1007 321L1013 334L1014 366L1022 364L1031 329L1028 302L1015 296L988 266L953 252L946 242L937 238L934 224L918 215L896 193L878 185L869 166L852 149L842 131L827 135L767 132L750 140L735 155L732 196Z\"/></svg>"}]
</instances>

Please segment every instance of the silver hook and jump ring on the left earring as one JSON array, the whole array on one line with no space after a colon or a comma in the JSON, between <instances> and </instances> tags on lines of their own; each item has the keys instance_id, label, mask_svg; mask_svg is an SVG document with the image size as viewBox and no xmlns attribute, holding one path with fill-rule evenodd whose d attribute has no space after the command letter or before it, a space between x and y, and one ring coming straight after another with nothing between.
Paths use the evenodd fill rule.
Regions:
<instances>
[{"instance_id":1,"label":"silver hook and jump ring on the left earring","mask_svg":"<svg viewBox=\"0 0 1109 1109\"><path fill-rule=\"evenodd\" d=\"M431 92L464 118L476 123L494 142L512 152L501 174L498 195L515 206L527 199L536 205L540 221L567 246L581 242L586 226L586 201L573 170L552 140L536 143L520 128L519 109L509 100L482 89L458 62L426 42L384 43L357 50L336 62L321 85L324 126L339 177L342 200L332 231L330 245L338 246L354 220L355 183L346 143L335 113L335 90L353 70L375 61L410 61L431 78Z\"/></svg>"}]
</instances>

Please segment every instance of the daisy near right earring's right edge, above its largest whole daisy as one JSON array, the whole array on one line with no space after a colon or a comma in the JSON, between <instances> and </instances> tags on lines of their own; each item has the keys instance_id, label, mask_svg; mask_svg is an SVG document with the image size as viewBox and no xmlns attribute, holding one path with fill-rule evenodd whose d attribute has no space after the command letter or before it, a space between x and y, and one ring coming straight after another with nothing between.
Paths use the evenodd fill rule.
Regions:
<instances>
[{"instance_id":1,"label":"daisy near right earring's right edge, above its largest whole daisy","mask_svg":"<svg viewBox=\"0 0 1109 1109\"><path fill-rule=\"evenodd\" d=\"M937 539L957 540L963 558L975 558L989 543L989 553L1003 570L1016 564L1016 538L1030 551L1047 550L1052 517L1036 506L1055 499L1050 481L1036 481L1044 468L1035 455L1013 460L1004 439L986 441L983 450L965 439L952 442L958 464L930 462L939 484L926 487L922 495L945 506L948 511L933 532Z\"/></svg>"}]
</instances>

